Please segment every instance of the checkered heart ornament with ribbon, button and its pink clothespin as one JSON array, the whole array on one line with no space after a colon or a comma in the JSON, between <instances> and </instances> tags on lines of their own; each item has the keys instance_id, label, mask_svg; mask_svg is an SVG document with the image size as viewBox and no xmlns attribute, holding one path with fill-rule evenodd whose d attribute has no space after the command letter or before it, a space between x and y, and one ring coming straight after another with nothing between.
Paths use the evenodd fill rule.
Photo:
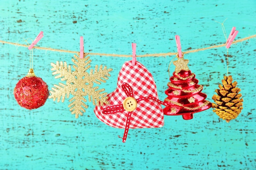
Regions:
<instances>
[{"instance_id":1,"label":"checkered heart ornament with ribbon, button and its pink clothespin","mask_svg":"<svg viewBox=\"0 0 256 170\"><path fill-rule=\"evenodd\" d=\"M95 115L114 128L158 128L164 125L164 114L151 73L136 61L136 44L132 43L132 61L125 62L117 80L117 88L108 94L109 104L96 106Z\"/></svg>"}]
</instances>

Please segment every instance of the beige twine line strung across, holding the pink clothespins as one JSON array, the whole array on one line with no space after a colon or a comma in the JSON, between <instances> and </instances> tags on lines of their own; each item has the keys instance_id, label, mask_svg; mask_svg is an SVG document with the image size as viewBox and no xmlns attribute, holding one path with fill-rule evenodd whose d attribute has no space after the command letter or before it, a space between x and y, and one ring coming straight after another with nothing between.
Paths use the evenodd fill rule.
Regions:
<instances>
[{"instance_id":1,"label":"beige twine line strung across, holding the pink clothespins","mask_svg":"<svg viewBox=\"0 0 256 170\"><path fill-rule=\"evenodd\" d=\"M241 38L239 40L233 41L232 44L236 44L238 42L243 42L245 40L249 40L249 39L254 38L254 37L256 37L256 35L252 35L252 36L249 36L249 37ZM15 46L28 47L27 45L24 45L24 44L18 44L18 43L13 43L13 42L6 42L6 41L2 41L2 40L0 40L0 42L2 42L3 44L11 44L11 45L15 45ZM195 53L195 52L198 52L198 51L204 51L204 50L208 50L208 49L215 49L215 48L219 48L219 47L222 47L222 46L226 46L226 43L225 44L220 44L220 45L209 46L209 47L202 48L202 49L195 49L195 50L190 50L190 51L184 51L183 53L184 54ZM33 49L47 50L47 51L57 51L57 52L63 52L63 53L76 53L77 52L77 51L52 49L52 48L39 47L39 46L34 46ZM132 55L107 54L107 53L88 53L88 55L102 55L102 56L111 56L111 57L132 57ZM166 56L166 55L176 55L176 53L144 54L144 55L136 55L136 57L161 57L161 56Z\"/></svg>"}]
</instances>

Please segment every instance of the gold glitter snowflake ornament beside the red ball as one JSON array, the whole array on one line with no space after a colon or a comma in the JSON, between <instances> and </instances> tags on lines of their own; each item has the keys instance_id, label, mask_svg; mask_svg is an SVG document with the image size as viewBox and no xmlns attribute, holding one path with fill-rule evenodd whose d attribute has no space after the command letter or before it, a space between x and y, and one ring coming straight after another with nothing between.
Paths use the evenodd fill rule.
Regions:
<instances>
[{"instance_id":1,"label":"gold glitter snowflake ornament beside the red ball","mask_svg":"<svg viewBox=\"0 0 256 170\"><path fill-rule=\"evenodd\" d=\"M80 53L77 53L79 56ZM93 105L99 103L102 105L103 103L108 104L107 93L104 88L99 89L99 86L94 86L94 84L101 84L101 82L105 83L106 79L110 77L109 72L112 71L112 68L108 68L107 66L98 65L95 66L95 69L91 69L90 73L86 71L91 67L89 64L92 60L89 60L90 57L86 57L88 53L83 54L83 58L79 58L77 55L74 55L72 58L72 62L75 64L73 68L75 71L71 70L71 66L66 62L56 62L56 64L51 63L52 65L52 75L55 75L55 78L61 78L61 81L66 81L66 84L59 83L59 85L54 84L52 91L50 92L49 98L52 98L54 101L57 99L57 102L64 102L65 96L69 98L70 94L73 95L69 102L71 102L68 107L70 107L70 111L72 114L76 115L76 118L79 115L83 115L85 109L88 106L85 104L87 100L84 98L88 96L89 102L92 102ZM86 58L85 58L86 57ZM99 89L99 90L98 90ZM62 97L62 99L61 99Z\"/></svg>"}]
</instances>

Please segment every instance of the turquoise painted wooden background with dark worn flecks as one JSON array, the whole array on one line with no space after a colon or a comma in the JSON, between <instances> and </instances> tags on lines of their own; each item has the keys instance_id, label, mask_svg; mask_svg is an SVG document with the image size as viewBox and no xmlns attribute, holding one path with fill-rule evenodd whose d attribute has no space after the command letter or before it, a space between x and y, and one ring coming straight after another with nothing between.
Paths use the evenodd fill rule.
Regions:
<instances>
[{"instance_id":1,"label":"turquoise painted wooden background with dark worn flecks","mask_svg":"<svg viewBox=\"0 0 256 170\"><path fill-rule=\"evenodd\" d=\"M38 46L79 51L137 55L175 52L175 35L183 51L225 42L232 26L238 38L256 34L255 0L1 0L0 40L26 44L40 31ZM130 130L125 144L117 135L123 129L103 124L91 103L84 116L75 119L64 103L48 99L36 110L16 103L13 88L29 69L29 50L0 44L0 169L1 170L255 170L256 39L233 44L229 72L242 89L244 109L227 124L211 109L194 119L165 116L155 129ZM72 64L74 54L34 50L34 70L51 88L60 80L52 76L51 62ZM189 68L204 86L208 100L227 72L226 49L210 49L185 55ZM173 56L137 58L153 74L159 98L164 100L168 64ZM130 58L91 56L92 66L113 68L101 88L116 88L117 74ZM171 66L174 70L174 66ZM171 72L172 72L171 71Z\"/></svg>"}]
</instances>

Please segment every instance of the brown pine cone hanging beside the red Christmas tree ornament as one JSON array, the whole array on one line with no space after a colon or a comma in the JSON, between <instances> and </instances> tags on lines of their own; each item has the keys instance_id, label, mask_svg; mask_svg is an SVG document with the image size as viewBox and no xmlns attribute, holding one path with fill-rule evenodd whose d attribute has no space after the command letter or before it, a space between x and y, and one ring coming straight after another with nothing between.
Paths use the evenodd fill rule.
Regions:
<instances>
[{"instance_id":1,"label":"brown pine cone hanging beside the red Christmas tree ornament","mask_svg":"<svg viewBox=\"0 0 256 170\"><path fill-rule=\"evenodd\" d=\"M222 84L216 89L218 95L213 95L212 99L216 103L212 103L213 112L215 112L220 118L226 120L227 123L231 119L236 119L241 110L243 109L243 99L241 94L238 94L241 89L236 87L237 82L232 83L232 76L224 76Z\"/></svg>"}]
</instances>

